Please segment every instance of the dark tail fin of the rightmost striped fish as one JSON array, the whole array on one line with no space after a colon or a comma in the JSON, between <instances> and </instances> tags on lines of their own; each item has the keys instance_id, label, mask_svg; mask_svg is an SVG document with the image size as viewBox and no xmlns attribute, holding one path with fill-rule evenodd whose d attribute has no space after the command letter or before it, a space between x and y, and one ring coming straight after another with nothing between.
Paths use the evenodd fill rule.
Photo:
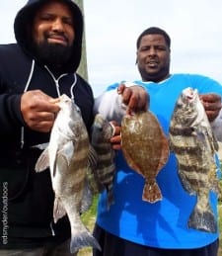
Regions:
<instances>
[{"instance_id":1,"label":"dark tail fin of the rightmost striped fish","mask_svg":"<svg viewBox=\"0 0 222 256\"><path fill-rule=\"evenodd\" d=\"M217 221L209 204L204 211L201 211L198 208L198 205L195 206L193 212L189 216L188 227L211 233L217 232Z\"/></svg>"}]
</instances>

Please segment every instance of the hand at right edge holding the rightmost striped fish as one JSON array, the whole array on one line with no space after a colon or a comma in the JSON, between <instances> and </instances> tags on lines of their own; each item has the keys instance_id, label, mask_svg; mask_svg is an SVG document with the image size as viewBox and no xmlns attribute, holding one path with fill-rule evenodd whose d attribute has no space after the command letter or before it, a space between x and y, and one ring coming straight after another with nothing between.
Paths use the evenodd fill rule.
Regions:
<instances>
[{"instance_id":1,"label":"hand at right edge holding the rightmost striped fish","mask_svg":"<svg viewBox=\"0 0 222 256\"><path fill-rule=\"evenodd\" d=\"M209 122L214 121L222 107L220 95L215 93L202 94L199 95L199 98L203 104Z\"/></svg>"}]
</instances>

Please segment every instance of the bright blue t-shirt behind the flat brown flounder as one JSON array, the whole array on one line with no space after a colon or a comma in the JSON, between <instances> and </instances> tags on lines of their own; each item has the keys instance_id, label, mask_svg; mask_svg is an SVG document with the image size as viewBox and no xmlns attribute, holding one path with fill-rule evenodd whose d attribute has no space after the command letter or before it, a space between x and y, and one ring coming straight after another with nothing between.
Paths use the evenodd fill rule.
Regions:
<instances>
[{"instance_id":1,"label":"bright blue t-shirt behind the flat brown flounder","mask_svg":"<svg viewBox=\"0 0 222 256\"><path fill-rule=\"evenodd\" d=\"M150 95L150 111L158 118L165 134L178 97L186 87L199 94L217 93L222 86L200 75L175 74L160 83L135 81ZM108 90L115 89L114 84ZM208 233L187 227L196 197L185 192L178 176L177 159L171 152L157 183L163 200L155 204L142 201L144 178L130 169L122 152L117 152L114 179L114 204L107 208L107 194L100 196L97 223L112 234L142 245L158 248L197 248L215 241L219 233ZM210 204L217 216L217 195L210 192Z\"/></svg>"}]
</instances>

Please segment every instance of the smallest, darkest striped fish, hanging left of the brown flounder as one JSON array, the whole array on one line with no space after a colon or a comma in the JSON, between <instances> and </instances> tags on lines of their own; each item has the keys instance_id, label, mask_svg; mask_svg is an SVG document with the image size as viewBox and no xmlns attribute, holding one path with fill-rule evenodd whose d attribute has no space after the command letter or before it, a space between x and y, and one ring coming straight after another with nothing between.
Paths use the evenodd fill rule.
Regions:
<instances>
[{"instance_id":1,"label":"smallest, darkest striped fish, hanging left of the brown flounder","mask_svg":"<svg viewBox=\"0 0 222 256\"><path fill-rule=\"evenodd\" d=\"M108 193L108 208L114 203L112 184L115 172L114 150L111 148L111 136L114 128L101 114L95 116L92 127L91 144L97 152L98 162L94 170L98 190L106 189Z\"/></svg>"}]
</instances>

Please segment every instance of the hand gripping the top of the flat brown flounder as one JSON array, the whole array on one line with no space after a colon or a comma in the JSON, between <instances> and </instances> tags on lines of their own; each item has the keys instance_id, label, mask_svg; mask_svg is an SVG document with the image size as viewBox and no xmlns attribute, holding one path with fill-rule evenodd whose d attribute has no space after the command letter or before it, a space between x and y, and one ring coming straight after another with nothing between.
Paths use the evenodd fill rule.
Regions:
<instances>
[{"instance_id":1,"label":"hand gripping the top of the flat brown flounder","mask_svg":"<svg viewBox=\"0 0 222 256\"><path fill-rule=\"evenodd\" d=\"M149 106L149 94L139 85L126 87L120 84L117 88L122 96L122 103L127 106L126 114L138 111L147 111Z\"/></svg>"}]
</instances>

